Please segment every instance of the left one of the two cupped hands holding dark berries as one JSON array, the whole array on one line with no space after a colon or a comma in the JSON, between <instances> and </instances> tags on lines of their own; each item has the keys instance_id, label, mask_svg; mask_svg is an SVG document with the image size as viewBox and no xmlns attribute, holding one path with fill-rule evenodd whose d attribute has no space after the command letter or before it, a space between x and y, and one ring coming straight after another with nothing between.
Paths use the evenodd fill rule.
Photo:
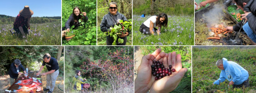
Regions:
<instances>
[{"instance_id":1,"label":"left one of the two cupped hands holding dark berries","mask_svg":"<svg viewBox=\"0 0 256 93\"><path fill-rule=\"evenodd\" d=\"M162 61L164 57L166 57L166 53L161 52L161 49L157 49L152 54L142 57L142 62L137 71L137 78L135 79L135 93L146 93L149 91L155 81L155 77L151 75L153 60Z\"/></svg>"}]
</instances>

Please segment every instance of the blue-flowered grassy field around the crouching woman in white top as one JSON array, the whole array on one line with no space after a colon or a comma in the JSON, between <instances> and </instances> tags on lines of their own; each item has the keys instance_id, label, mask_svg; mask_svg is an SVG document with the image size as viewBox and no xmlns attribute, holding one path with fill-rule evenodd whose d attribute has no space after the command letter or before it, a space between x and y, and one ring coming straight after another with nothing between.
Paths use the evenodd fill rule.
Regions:
<instances>
[{"instance_id":1,"label":"blue-flowered grassy field around the crouching woman in white top","mask_svg":"<svg viewBox=\"0 0 256 93\"><path fill-rule=\"evenodd\" d=\"M162 27L160 35L145 35L139 27L149 17L133 15L133 45L194 45L193 16L168 15L167 27Z\"/></svg>"}]
</instances>

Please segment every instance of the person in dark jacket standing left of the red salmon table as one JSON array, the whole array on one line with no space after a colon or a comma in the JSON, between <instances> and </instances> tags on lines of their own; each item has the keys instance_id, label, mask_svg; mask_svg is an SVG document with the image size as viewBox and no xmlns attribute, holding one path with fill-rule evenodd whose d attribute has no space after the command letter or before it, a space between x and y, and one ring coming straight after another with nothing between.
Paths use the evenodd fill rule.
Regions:
<instances>
[{"instance_id":1,"label":"person in dark jacket standing left of the red salmon table","mask_svg":"<svg viewBox=\"0 0 256 93\"><path fill-rule=\"evenodd\" d=\"M25 71L25 68L21 64L21 60L16 59L16 60L14 60L13 63L11 63L11 67L9 69L10 85L13 84L14 81L16 81L18 79L19 74L23 74L21 72L21 69L23 70L23 72L25 74L27 74Z\"/></svg>"}]
</instances>

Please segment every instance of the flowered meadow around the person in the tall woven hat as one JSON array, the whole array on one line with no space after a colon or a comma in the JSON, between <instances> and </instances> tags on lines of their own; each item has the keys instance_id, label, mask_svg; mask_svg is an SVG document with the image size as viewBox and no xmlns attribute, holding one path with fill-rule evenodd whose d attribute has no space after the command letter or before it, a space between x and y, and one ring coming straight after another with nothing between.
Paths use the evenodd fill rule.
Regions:
<instances>
[{"instance_id":1,"label":"flowered meadow around the person in the tall woven hat","mask_svg":"<svg viewBox=\"0 0 256 93\"><path fill-rule=\"evenodd\" d=\"M13 24L0 24L0 45L61 45L61 24L30 24L28 35L19 38Z\"/></svg>"}]
</instances>

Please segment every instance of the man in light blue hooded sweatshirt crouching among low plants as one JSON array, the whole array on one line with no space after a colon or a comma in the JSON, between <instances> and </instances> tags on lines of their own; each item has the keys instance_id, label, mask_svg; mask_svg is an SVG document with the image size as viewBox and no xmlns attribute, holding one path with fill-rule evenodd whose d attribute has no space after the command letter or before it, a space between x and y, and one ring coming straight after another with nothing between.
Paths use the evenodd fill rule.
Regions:
<instances>
[{"instance_id":1,"label":"man in light blue hooded sweatshirt crouching among low plants","mask_svg":"<svg viewBox=\"0 0 256 93\"><path fill-rule=\"evenodd\" d=\"M213 82L213 85L229 80L229 85L233 85L233 88L249 87L249 74L242 66L233 61L228 61L226 58L218 60L216 65L222 71L219 79Z\"/></svg>"}]
</instances>

